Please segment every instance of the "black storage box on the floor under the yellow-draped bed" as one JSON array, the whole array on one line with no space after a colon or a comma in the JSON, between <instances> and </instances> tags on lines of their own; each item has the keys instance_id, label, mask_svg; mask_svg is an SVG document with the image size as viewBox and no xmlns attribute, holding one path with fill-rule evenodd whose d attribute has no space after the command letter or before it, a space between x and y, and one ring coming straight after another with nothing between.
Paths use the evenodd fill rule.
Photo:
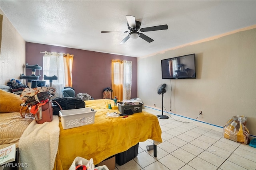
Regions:
<instances>
[{"instance_id":1,"label":"black storage box on the floor under the yellow-draped bed","mask_svg":"<svg viewBox=\"0 0 256 170\"><path fill-rule=\"evenodd\" d=\"M124 152L116 154L116 163L118 165L123 165L126 162L129 162L130 160L138 156L138 149L139 143Z\"/></svg>"}]
</instances>

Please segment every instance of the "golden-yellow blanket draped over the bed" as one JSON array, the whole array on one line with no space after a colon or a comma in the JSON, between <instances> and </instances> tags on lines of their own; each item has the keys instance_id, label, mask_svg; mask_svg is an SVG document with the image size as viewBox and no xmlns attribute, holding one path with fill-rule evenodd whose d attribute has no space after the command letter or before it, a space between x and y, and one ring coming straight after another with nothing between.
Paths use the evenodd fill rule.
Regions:
<instances>
[{"instance_id":1,"label":"golden-yellow blanket draped over the bed","mask_svg":"<svg viewBox=\"0 0 256 170\"><path fill-rule=\"evenodd\" d=\"M126 118L106 117L107 112L118 112L108 109L108 99L88 100L86 107L95 109L94 124L71 129L63 129L61 122L58 153L55 160L56 170L67 170L76 156L93 158L94 164L124 152L130 147L147 139L154 140L156 145L162 142L158 118L142 111Z\"/></svg>"}]
</instances>

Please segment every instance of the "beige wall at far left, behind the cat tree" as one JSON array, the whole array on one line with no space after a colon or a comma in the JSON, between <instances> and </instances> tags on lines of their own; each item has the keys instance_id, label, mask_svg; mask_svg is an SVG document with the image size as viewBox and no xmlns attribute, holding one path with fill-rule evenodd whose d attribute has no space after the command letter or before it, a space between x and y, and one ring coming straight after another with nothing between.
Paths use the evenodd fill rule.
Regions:
<instances>
[{"instance_id":1,"label":"beige wall at far left, behind the cat tree","mask_svg":"<svg viewBox=\"0 0 256 170\"><path fill-rule=\"evenodd\" d=\"M20 80L20 74L25 74L26 52L24 39L6 18L2 10L0 10L0 14L3 15L0 46L0 84L6 85L10 79Z\"/></svg>"}]
</instances>

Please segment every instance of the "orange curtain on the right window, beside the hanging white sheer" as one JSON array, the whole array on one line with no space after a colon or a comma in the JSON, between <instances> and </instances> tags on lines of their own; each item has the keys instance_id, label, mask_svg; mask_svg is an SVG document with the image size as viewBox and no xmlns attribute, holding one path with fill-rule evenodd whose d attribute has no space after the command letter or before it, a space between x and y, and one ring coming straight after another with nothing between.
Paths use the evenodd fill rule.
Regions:
<instances>
[{"instance_id":1,"label":"orange curtain on the right window, beside the hanging white sheer","mask_svg":"<svg viewBox=\"0 0 256 170\"><path fill-rule=\"evenodd\" d=\"M112 98L116 96L118 100L123 100L123 78L124 64L123 61L112 60Z\"/></svg>"}]
</instances>

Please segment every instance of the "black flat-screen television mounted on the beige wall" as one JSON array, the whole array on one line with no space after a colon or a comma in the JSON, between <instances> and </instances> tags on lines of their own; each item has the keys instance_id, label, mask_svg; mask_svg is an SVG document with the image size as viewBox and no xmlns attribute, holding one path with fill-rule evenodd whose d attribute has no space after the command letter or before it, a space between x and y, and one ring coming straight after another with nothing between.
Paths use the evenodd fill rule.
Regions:
<instances>
[{"instance_id":1,"label":"black flat-screen television mounted on the beige wall","mask_svg":"<svg viewBox=\"0 0 256 170\"><path fill-rule=\"evenodd\" d=\"M162 79L196 78L196 54L161 60Z\"/></svg>"}]
</instances>

